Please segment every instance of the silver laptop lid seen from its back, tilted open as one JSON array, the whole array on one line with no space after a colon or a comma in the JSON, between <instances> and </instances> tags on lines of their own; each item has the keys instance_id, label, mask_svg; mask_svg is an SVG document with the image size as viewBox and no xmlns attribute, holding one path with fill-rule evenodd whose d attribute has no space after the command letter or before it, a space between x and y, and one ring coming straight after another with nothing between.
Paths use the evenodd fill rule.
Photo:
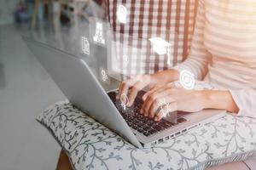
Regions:
<instances>
[{"instance_id":1,"label":"silver laptop lid seen from its back, tilted open","mask_svg":"<svg viewBox=\"0 0 256 170\"><path fill-rule=\"evenodd\" d=\"M81 111L143 148L83 59L23 37L63 94Z\"/></svg>"}]
</instances>

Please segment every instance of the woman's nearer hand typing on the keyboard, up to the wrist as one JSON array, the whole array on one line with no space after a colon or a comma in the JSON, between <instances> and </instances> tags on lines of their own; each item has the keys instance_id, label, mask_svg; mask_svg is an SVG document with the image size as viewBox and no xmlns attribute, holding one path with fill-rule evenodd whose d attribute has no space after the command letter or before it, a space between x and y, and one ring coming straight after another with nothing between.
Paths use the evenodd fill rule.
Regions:
<instances>
[{"instance_id":1,"label":"woman's nearer hand typing on the keyboard, up to the wrist","mask_svg":"<svg viewBox=\"0 0 256 170\"><path fill-rule=\"evenodd\" d=\"M195 112L205 109L205 96L202 91L186 90L184 88L173 88L170 84L153 88L143 95L143 106L141 113L144 116L160 121L164 112L160 111L160 105L168 112L188 111Z\"/></svg>"}]
</instances>

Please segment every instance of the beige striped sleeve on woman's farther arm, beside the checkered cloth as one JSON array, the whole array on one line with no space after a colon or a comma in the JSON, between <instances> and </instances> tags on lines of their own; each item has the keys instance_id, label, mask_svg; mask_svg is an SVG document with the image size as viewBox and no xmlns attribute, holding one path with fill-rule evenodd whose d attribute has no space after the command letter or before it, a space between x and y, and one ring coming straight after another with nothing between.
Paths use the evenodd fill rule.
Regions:
<instances>
[{"instance_id":1,"label":"beige striped sleeve on woman's farther arm, beside the checkered cloth","mask_svg":"<svg viewBox=\"0 0 256 170\"><path fill-rule=\"evenodd\" d=\"M202 80L206 76L208 71L207 65L212 59L212 54L207 52L204 45L205 21L205 1L200 0L189 56L183 63L173 67L173 69L178 71L191 71L198 80Z\"/></svg>"}]
</instances>

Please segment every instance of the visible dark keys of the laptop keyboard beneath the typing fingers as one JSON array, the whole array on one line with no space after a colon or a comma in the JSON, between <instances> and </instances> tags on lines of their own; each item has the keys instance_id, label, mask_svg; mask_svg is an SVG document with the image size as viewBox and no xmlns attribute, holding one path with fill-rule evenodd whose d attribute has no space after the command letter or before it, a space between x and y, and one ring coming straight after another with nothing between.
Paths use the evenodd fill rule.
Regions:
<instances>
[{"instance_id":1,"label":"visible dark keys of the laptop keyboard beneath the typing fingers","mask_svg":"<svg viewBox=\"0 0 256 170\"><path fill-rule=\"evenodd\" d=\"M150 136L151 134L158 133L165 130L166 128L175 126L179 123L186 122L183 117L177 117L177 123L168 122L165 119L161 119L160 122L154 122L150 117L143 116L140 114L141 105L143 104L142 96L139 93L137 99L135 99L134 105L131 107L126 107L125 111L119 100L116 100L116 92L108 93L108 96L113 101L114 105L119 110L120 114L124 117L127 124L137 130L139 133L143 133L145 136Z\"/></svg>"}]
</instances>

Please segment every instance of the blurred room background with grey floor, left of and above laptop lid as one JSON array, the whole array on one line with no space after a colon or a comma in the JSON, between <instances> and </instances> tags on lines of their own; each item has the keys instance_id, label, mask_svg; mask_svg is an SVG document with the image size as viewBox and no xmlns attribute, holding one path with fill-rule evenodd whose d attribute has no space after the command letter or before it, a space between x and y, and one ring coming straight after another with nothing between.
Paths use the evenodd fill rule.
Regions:
<instances>
[{"instance_id":1,"label":"blurred room background with grey floor, left of and above laptop lid","mask_svg":"<svg viewBox=\"0 0 256 170\"><path fill-rule=\"evenodd\" d=\"M61 148L35 118L65 96L22 36L81 56L78 38L88 34L90 16L105 16L105 4L101 0L0 0L0 4L0 169L55 169Z\"/></svg>"}]
</instances>

